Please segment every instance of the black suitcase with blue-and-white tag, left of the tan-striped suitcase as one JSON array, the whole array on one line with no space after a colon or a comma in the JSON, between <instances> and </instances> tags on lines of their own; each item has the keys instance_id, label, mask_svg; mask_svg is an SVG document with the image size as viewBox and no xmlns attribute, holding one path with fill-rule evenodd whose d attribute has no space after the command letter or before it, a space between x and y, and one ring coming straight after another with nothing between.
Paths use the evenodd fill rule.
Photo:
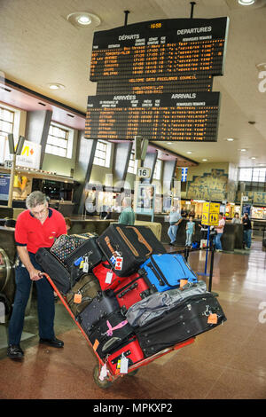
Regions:
<instances>
[{"instance_id":1,"label":"black suitcase with blue-and-white tag, left of the tan-striped suitcase","mask_svg":"<svg viewBox=\"0 0 266 417\"><path fill-rule=\"evenodd\" d=\"M85 240L84 243L82 243L79 248L76 248L71 255L66 256L64 264L66 264L69 271L71 271L72 268L79 269L80 264L78 262L81 258L82 260L84 260L85 257L88 258L89 267L86 272L92 271L95 266L100 264L105 259L105 256L98 247L96 240L96 237L91 237L90 239Z\"/></svg>"}]
</instances>

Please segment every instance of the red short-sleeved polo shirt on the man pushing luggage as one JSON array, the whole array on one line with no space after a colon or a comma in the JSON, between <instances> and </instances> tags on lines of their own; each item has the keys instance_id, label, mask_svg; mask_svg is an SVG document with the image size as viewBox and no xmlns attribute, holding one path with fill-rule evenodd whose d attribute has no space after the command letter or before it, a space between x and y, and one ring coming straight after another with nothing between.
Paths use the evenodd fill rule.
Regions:
<instances>
[{"instance_id":1,"label":"red short-sleeved polo shirt on the man pushing luggage","mask_svg":"<svg viewBox=\"0 0 266 417\"><path fill-rule=\"evenodd\" d=\"M27 246L28 252L35 254L39 248L51 248L55 238L66 234L66 222L59 211L49 209L42 224L29 210L17 218L15 240L18 246Z\"/></svg>"}]
</instances>

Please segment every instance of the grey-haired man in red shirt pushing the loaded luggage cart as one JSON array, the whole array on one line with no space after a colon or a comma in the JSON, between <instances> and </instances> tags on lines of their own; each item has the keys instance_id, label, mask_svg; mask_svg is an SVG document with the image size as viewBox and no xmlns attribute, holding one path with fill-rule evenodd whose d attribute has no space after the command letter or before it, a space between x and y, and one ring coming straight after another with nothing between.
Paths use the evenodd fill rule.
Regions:
<instances>
[{"instance_id":1,"label":"grey-haired man in red shirt pushing the loaded luggage cart","mask_svg":"<svg viewBox=\"0 0 266 417\"><path fill-rule=\"evenodd\" d=\"M53 289L42 277L42 267L35 261L39 248L51 248L54 240L66 234L64 217L48 207L46 196L35 191L27 196L27 210L20 213L15 228L19 260L16 266L16 294L9 324L9 358L23 358L20 338L32 281L35 281L38 300L40 343L62 348L64 342L56 339L53 329L55 307Z\"/></svg>"}]
</instances>

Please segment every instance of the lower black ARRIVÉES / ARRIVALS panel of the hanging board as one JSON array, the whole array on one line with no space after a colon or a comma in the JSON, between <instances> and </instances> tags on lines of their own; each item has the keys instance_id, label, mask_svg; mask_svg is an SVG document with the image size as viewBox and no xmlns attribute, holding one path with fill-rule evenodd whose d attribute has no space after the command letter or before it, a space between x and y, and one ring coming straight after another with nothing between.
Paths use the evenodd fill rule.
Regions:
<instances>
[{"instance_id":1,"label":"lower black ARRIV\u00c9ES / ARRIVALS panel of the hanging board","mask_svg":"<svg viewBox=\"0 0 266 417\"><path fill-rule=\"evenodd\" d=\"M85 138L215 141L219 92L88 98Z\"/></svg>"}]
</instances>

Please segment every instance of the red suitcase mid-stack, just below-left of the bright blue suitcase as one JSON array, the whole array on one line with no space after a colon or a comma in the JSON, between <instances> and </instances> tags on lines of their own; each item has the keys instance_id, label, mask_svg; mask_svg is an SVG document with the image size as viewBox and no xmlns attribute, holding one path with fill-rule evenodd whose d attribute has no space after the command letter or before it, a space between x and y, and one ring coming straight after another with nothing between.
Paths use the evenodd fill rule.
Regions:
<instances>
[{"instance_id":1,"label":"red suitcase mid-stack, just below-left of the bright blue suitcase","mask_svg":"<svg viewBox=\"0 0 266 417\"><path fill-rule=\"evenodd\" d=\"M123 311L127 311L131 305L150 295L151 289L142 275L135 273L124 278L118 287L115 287L114 294Z\"/></svg>"}]
</instances>

